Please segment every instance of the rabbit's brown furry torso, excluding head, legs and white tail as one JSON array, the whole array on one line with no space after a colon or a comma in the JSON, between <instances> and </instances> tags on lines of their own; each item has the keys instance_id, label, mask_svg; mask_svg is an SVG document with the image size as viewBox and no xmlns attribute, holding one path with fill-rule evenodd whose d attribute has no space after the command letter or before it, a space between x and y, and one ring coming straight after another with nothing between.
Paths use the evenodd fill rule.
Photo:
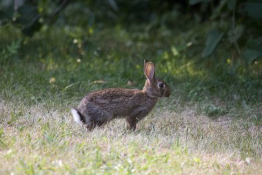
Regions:
<instances>
[{"instance_id":1,"label":"rabbit's brown furry torso, excluding head, legs and white tail","mask_svg":"<svg viewBox=\"0 0 262 175\"><path fill-rule=\"evenodd\" d=\"M157 98L149 98L147 93L137 89L103 89L85 95L78 109L83 116L103 122L132 116L135 111L147 114L156 102Z\"/></svg>"}]
</instances>

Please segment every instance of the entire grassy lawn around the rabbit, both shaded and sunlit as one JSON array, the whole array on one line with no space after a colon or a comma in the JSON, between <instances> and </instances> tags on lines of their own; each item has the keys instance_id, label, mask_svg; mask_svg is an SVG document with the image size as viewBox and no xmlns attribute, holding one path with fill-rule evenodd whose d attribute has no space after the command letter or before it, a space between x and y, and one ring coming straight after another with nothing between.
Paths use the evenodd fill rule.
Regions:
<instances>
[{"instance_id":1,"label":"entire grassy lawn around the rabbit, both shaded and sunlit","mask_svg":"<svg viewBox=\"0 0 262 175\"><path fill-rule=\"evenodd\" d=\"M0 174L262 174L261 62L248 74L231 73L230 48L202 59L207 25L0 28ZM137 131L73 122L90 91L142 89L145 57L172 97Z\"/></svg>"}]
</instances>

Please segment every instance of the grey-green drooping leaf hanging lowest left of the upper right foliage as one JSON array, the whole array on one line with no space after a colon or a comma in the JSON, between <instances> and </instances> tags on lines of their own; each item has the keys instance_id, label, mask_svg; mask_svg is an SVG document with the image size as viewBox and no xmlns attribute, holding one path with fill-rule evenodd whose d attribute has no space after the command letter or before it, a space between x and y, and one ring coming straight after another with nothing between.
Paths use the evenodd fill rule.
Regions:
<instances>
[{"instance_id":1,"label":"grey-green drooping leaf hanging lowest left of the upper right foliage","mask_svg":"<svg viewBox=\"0 0 262 175\"><path fill-rule=\"evenodd\" d=\"M203 50L202 57L208 57L214 50L216 46L219 45L220 40L223 37L223 33L219 33L217 30L211 30L208 34L208 39L205 42L205 49Z\"/></svg>"}]
</instances>

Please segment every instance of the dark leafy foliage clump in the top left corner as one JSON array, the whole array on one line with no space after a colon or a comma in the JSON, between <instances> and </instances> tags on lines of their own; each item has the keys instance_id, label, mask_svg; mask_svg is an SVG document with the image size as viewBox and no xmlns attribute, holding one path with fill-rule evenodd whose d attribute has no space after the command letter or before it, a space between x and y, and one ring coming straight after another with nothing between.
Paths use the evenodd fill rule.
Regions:
<instances>
[{"instance_id":1,"label":"dark leafy foliage clump in the top left corner","mask_svg":"<svg viewBox=\"0 0 262 175\"><path fill-rule=\"evenodd\" d=\"M0 3L0 26L14 24L24 35L32 36L43 24L49 25L68 1L8 1ZM55 5L54 5L55 4ZM52 6L54 5L54 6ZM51 12L50 12L51 9Z\"/></svg>"}]
</instances>

